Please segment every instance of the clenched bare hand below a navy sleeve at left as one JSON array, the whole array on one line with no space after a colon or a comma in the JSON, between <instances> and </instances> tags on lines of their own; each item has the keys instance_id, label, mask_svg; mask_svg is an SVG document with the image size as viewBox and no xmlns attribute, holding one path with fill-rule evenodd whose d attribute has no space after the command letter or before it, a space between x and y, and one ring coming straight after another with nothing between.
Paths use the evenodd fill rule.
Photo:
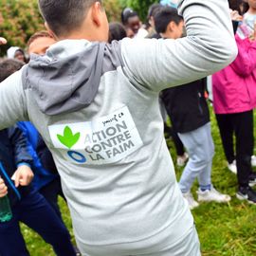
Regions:
<instances>
[{"instance_id":1,"label":"clenched bare hand below a navy sleeve at left","mask_svg":"<svg viewBox=\"0 0 256 256\"><path fill-rule=\"evenodd\" d=\"M18 167L12 178L15 182L15 187L27 186L32 181L34 174L30 167L27 165L21 165Z\"/></svg>"}]
</instances>

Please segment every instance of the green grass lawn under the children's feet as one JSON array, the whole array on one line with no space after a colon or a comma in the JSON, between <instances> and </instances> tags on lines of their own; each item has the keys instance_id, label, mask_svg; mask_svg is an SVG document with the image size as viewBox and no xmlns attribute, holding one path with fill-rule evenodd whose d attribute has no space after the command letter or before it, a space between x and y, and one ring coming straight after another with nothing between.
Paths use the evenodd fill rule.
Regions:
<instances>
[{"instance_id":1,"label":"green grass lawn under the children's feet","mask_svg":"<svg viewBox=\"0 0 256 256\"><path fill-rule=\"evenodd\" d=\"M232 196L232 200L229 204L204 203L197 209L192 210L201 241L202 255L255 256L256 206L236 199L236 176L231 174L227 168L216 121L214 116L211 116L212 136L215 143L212 183L217 190L229 193ZM175 162L173 142L169 140L167 142ZM177 178L179 178L181 172L182 169L176 168ZM196 195L196 188L197 184L194 184L192 190L194 195ZM73 237L69 213L63 200L60 200L60 206L64 222ZM24 225L22 225L22 231L31 256L54 255L52 249L37 234L27 229Z\"/></svg>"}]
</instances>

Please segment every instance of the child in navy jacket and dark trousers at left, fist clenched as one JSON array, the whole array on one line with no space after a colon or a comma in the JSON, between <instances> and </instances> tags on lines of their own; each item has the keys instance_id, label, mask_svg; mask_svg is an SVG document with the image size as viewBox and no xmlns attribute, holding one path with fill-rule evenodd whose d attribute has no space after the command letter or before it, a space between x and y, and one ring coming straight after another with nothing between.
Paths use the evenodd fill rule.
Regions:
<instances>
[{"instance_id":1,"label":"child in navy jacket and dark trousers at left, fist clenched","mask_svg":"<svg viewBox=\"0 0 256 256\"><path fill-rule=\"evenodd\" d=\"M18 68L19 64L22 66L18 61L9 60L5 68L11 63L13 68ZM2 76L4 70L1 69ZM56 255L75 256L64 223L43 195L29 185L33 178L32 162L27 152L27 139L17 126L0 131L0 197L8 194L12 210L12 218L0 222L0 255L29 255L19 227L19 222L23 222L38 232L53 247Z\"/></svg>"}]
</instances>

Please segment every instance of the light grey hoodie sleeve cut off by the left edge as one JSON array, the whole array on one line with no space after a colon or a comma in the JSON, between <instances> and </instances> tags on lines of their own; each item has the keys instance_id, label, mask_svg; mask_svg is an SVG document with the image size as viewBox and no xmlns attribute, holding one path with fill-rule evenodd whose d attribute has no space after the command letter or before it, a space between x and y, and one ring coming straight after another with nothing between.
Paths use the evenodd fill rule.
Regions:
<instances>
[{"instance_id":1,"label":"light grey hoodie sleeve cut off by the left edge","mask_svg":"<svg viewBox=\"0 0 256 256\"><path fill-rule=\"evenodd\" d=\"M0 83L0 130L12 126L19 120L27 119L21 69Z\"/></svg>"}]
</instances>

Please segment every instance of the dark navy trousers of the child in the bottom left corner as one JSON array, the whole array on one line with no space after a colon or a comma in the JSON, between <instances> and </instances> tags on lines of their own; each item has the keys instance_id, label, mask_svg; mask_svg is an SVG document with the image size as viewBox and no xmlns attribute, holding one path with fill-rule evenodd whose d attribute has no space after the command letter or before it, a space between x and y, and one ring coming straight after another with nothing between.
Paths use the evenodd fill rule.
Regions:
<instances>
[{"instance_id":1,"label":"dark navy trousers of the child in the bottom left corner","mask_svg":"<svg viewBox=\"0 0 256 256\"><path fill-rule=\"evenodd\" d=\"M9 222L0 223L1 256L29 255L19 222L38 232L53 247L56 255L76 255L68 230L39 192L28 193L12 208L12 214Z\"/></svg>"}]
</instances>

